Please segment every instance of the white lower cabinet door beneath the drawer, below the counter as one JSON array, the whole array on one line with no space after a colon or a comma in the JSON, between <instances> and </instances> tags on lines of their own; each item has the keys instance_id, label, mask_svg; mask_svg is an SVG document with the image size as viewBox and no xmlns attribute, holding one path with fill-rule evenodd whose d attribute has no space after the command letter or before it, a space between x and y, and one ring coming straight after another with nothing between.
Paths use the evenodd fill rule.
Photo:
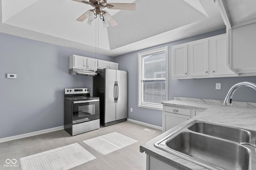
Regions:
<instances>
[{"instance_id":1,"label":"white lower cabinet door beneath the drawer, below the counter","mask_svg":"<svg viewBox=\"0 0 256 170\"><path fill-rule=\"evenodd\" d=\"M169 129L172 129L180 123L183 123L184 121L190 119L190 116L169 113L166 111L163 111L163 113L163 120L165 119L165 122L163 123L163 126L165 127L163 127L163 132L168 131Z\"/></svg>"}]
</instances>

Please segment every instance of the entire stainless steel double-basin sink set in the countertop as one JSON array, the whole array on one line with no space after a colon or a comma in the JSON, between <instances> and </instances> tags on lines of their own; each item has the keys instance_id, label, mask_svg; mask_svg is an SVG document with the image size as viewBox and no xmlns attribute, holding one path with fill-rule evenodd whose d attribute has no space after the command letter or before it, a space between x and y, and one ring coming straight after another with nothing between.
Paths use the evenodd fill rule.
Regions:
<instances>
[{"instance_id":1,"label":"entire stainless steel double-basin sink set in the countertop","mask_svg":"<svg viewBox=\"0 0 256 170\"><path fill-rule=\"evenodd\" d=\"M155 146L212 170L254 170L255 134L246 129L192 121Z\"/></svg>"}]
</instances>

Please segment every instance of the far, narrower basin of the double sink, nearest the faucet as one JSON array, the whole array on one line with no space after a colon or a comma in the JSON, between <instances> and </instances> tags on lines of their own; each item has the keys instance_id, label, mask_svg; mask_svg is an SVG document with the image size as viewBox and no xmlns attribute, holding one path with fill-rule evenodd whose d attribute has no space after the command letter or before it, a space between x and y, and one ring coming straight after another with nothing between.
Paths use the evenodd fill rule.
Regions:
<instances>
[{"instance_id":1,"label":"far, narrower basin of the double sink, nearest the faucet","mask_svg":"<svg viewBox=\"0 0 256 170\"><path fill-rule=\"evenodd\" d=\"M244 129L216 125L213 123L197 122L188 127L190 131L227 139L238 143L250 143L251 133Z\"/></svg>"}]
</instances>

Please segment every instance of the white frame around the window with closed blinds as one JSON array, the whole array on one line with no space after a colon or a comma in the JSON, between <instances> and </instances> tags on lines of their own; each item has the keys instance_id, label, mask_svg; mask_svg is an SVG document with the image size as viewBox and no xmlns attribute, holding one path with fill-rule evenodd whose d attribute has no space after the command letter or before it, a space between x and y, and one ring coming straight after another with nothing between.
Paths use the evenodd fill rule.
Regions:
<instances>
[{"instance_id":1,"label":"white frame around the window with closed blinds","mask_svg":"<svg viewBox=\"0 0 256 170\"><path fill-rule=\"evenodd\" d=\"M153 53L166 53L166 78L165 78L165 84L166 84L166 101L168 100L168 46L150 50L150 51L145 51L142 53L138 53L138 107L144 107L148 109L156 109L156 110L162 110L163 105L159 104L146 104L142 103L142 58L145 55L150 55Z\"/></svg>"}]
</instances>

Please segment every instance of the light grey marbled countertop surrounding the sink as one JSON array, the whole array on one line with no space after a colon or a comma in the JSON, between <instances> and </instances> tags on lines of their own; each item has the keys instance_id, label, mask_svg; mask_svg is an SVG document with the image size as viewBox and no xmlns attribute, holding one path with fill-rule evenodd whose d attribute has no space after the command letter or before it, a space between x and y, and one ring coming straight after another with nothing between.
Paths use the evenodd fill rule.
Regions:
<instances>
[{"instance_id":1,"label":"light grey marbled countertop surrounding the sink","mask_svg":"<svg viewBox=\"0 0 256 170\"><path fill-rule=\"evenodd\" d=\"M187 99L187 98L184 98L184 99ZM245 103L245 102L241 102L241 103ZM164 150L158 149L154 147L154 143L170 135L170 133L178 129L181 129L191 121L194 121L194 120L207 121L207 122L218 123L218 124L228 125L233 127L240 127L240 128L256 131L256 123L255 123L256 122L256 107L255 107L256 104L255 103L242 104L242 105L248 105L249 107L241 107L240 105L224 106L223 104L221 105L218 103L209 104L207 102L200 103L195 101L172 100L168 102L163 102L163 105L171 106L171 107L190 108L190 109L191 107L207 109L206 111L200 113L199 115L192 117L191 119L185 121L184 123L181 123L180 125L166 131L165 133L162 133L158 137L140 146L140 152L145 152L146 154L149 154L150 156L158 158L162 162L170 164L181 170L205 170L206 168L199 166L198 164L189 162L188 160L180 158Z\"/></svg>"}]
</instances>

